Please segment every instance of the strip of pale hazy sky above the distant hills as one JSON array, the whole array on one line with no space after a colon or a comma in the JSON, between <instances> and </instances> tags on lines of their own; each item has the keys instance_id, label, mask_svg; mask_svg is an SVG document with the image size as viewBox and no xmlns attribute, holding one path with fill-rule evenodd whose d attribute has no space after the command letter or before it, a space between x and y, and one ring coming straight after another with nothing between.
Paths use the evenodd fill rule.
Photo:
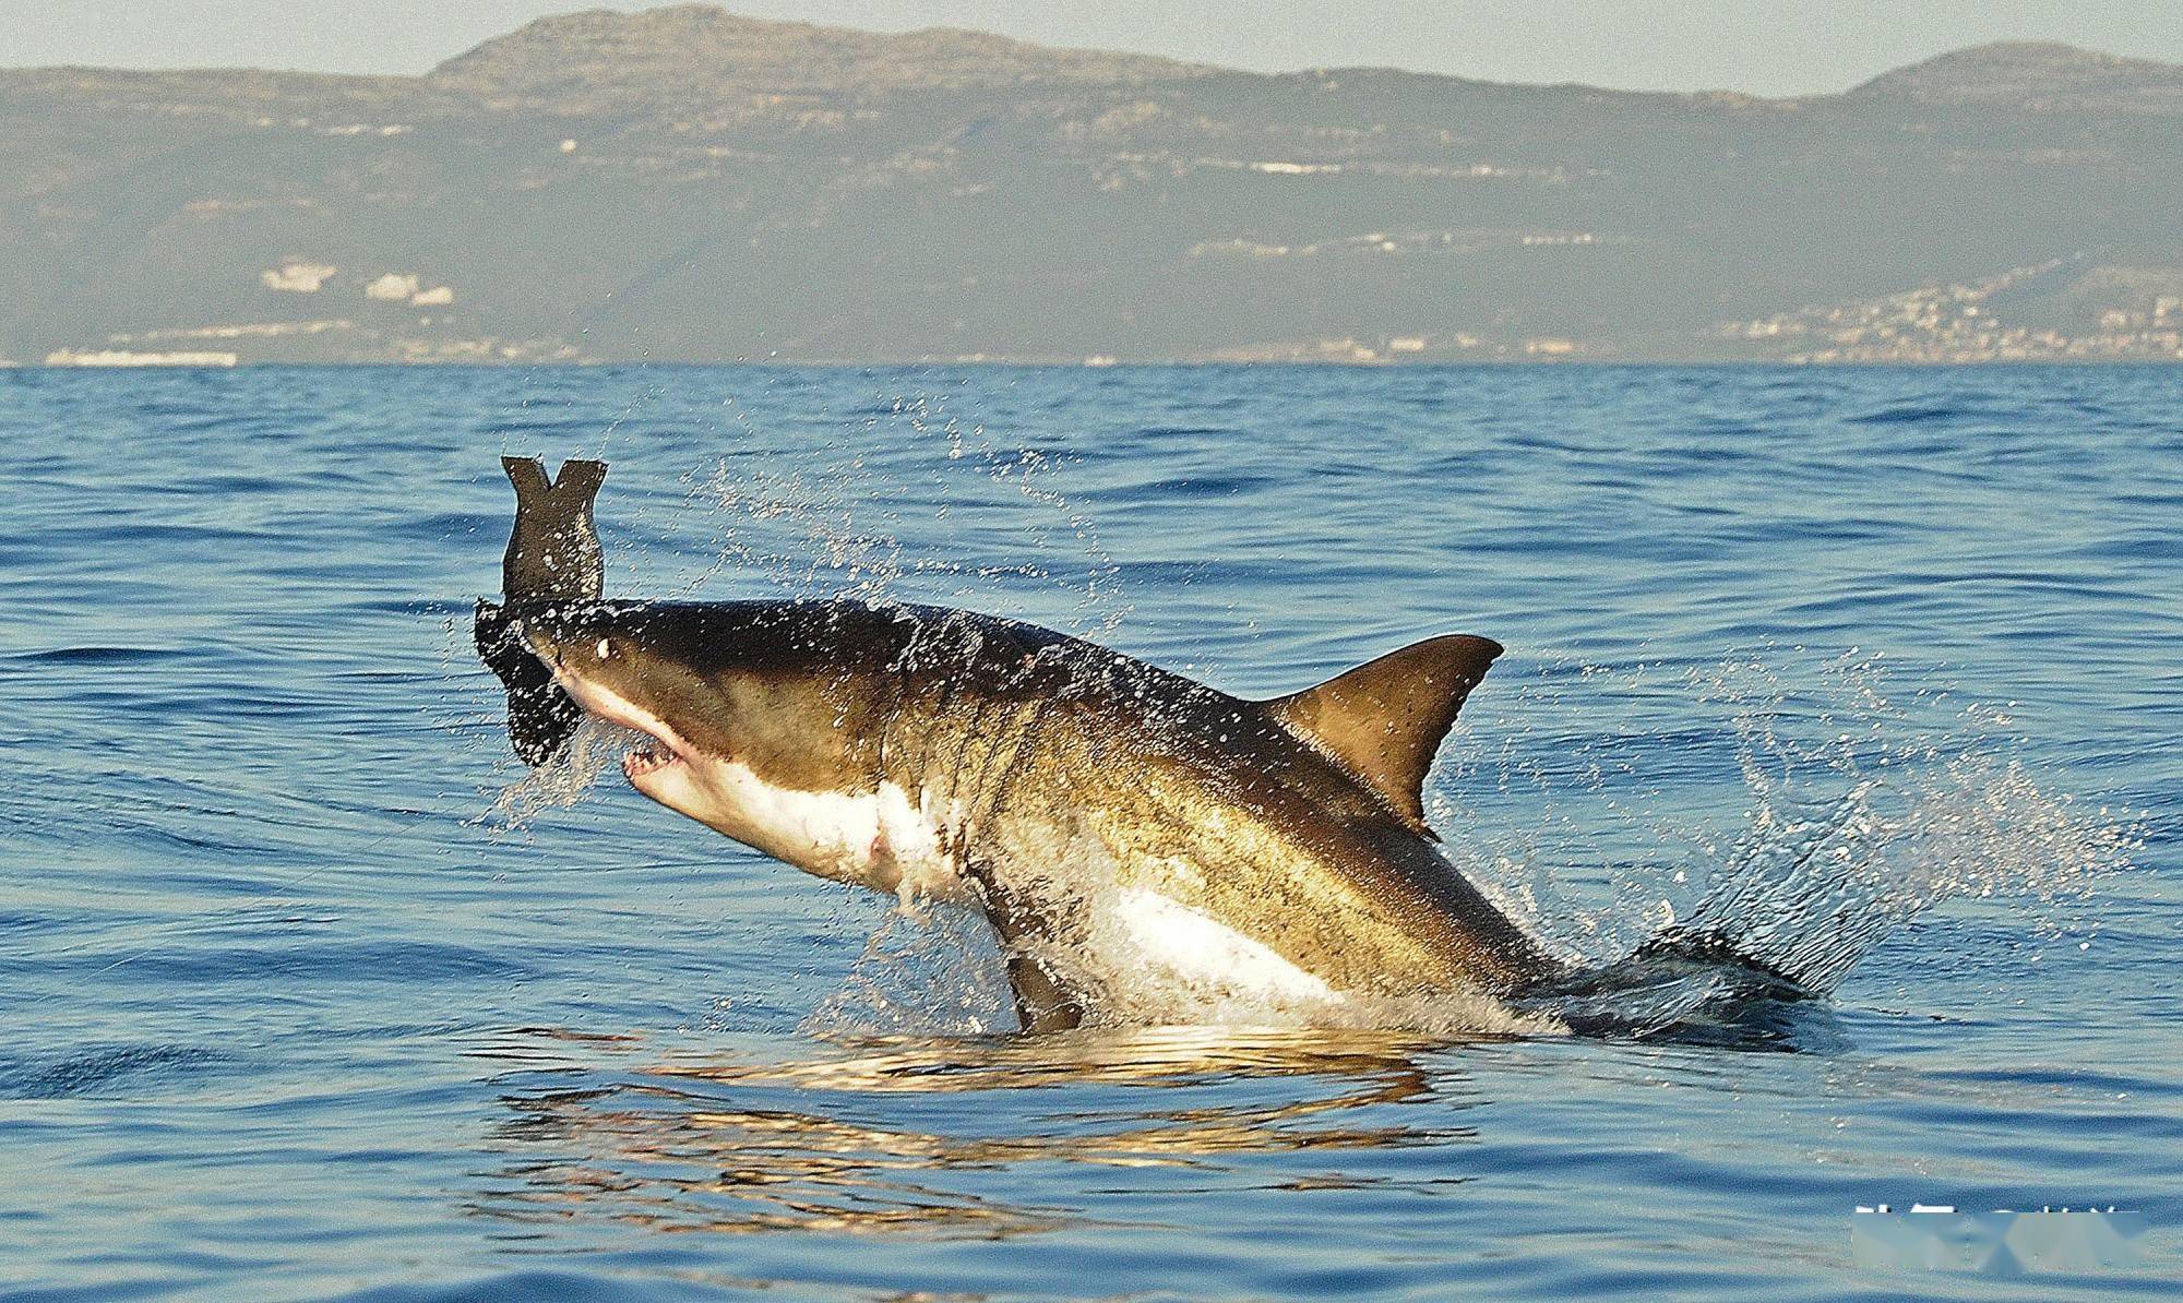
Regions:
<instances>
[{"instance_id":1,"label":"strip of pale hazy sky above the distant hills","mask_svg":"<svg viewBox=\"0 0 2183 1303\"><path fill-rule=\"evenodd\" d=\"M0 65L424 72L589 0L0 0ZM648 9L651 4L603 4ZM2183 63L2176 0L740 0L875 31L969 26L1231 68L1380 63L1493 81L1805 94L1943 50L2069 41Z\"/></svg>"}]
</instances>

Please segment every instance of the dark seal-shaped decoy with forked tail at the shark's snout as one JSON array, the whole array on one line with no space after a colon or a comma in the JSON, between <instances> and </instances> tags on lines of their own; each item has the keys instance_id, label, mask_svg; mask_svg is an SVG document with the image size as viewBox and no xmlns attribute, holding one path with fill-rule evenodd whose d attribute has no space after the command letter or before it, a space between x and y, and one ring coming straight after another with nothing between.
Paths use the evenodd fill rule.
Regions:
<instances>
[{"instance_id":1,"label":"dark seal-shaped decoy with forked tail at the shark's snout","mask_svg":"<svg viewBox=\"0 0 2183 1303\"><path fill-rule=\"evenodd\" d=\"M568 746L583 722L583 707L530 655L515 618L548 602L594 602L605 589L592 500L607 478L607 463L565 461L552 482L546 480L546 463L535 456L502 456L500 467L515 485L515 528L500 559L506 602L480 600L472 637L478 659L509 692L509 744L524 764L537 766Z\"/></svg>"}]
</instances>

